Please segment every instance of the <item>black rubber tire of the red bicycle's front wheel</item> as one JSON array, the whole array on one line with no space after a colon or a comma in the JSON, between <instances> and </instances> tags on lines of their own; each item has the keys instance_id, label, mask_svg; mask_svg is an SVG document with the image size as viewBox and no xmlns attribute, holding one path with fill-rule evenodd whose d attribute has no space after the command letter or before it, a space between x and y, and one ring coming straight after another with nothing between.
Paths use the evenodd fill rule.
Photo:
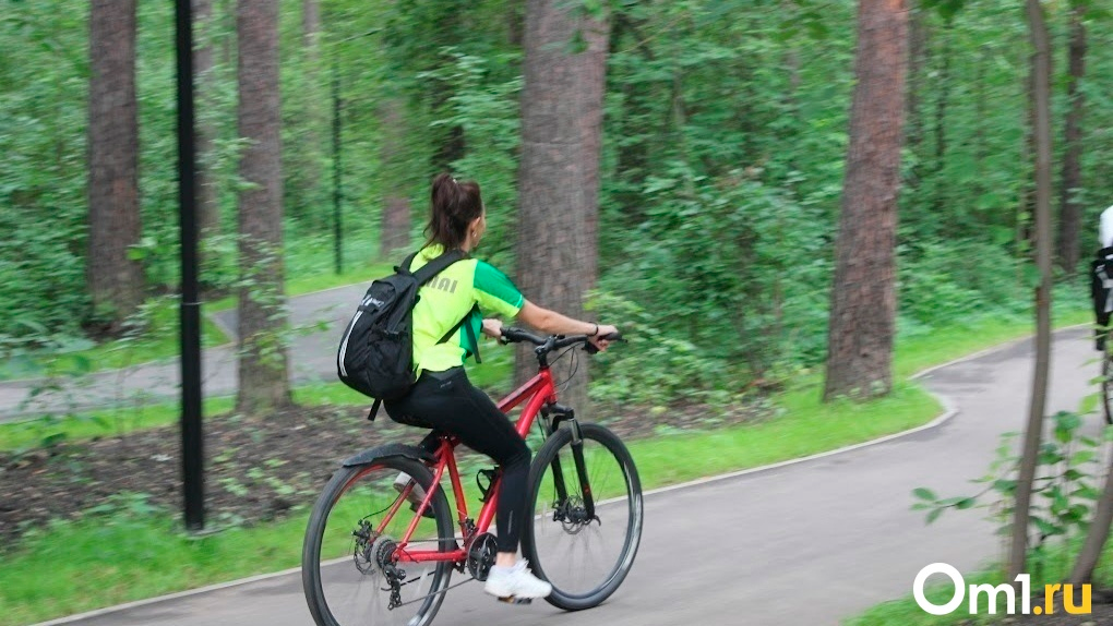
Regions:
<instances>
[{"instance_id":1,"label":"black rubber tire of the red bicycle's front wheel","mask_svg":"<svg viewBox=\"0 0 1113 626\"><path fill-rule=\"evenodd\" d=\"M584 594L569 594L555 585L553 586L552 594L545 598L545 600L564 610L583 610L587 608L593 608L599 606L603 600L609 598L619 586L622 585L622 580L626 579L627 575L630 573L630 568L633 566L634 557L638 554L638 547L641 544L641 530L644 524L644 503L642 500L641 494L641 479L638 476L638 467L633 463L633 457L627 449L626 445L621 439L609 429L597 424L583 424L580 426L581 434L584 439L590 439L602 444L604 448L608 449L618 460L619 465L627 477L630 497L632 503L632 514L627 525L627 539L626 545L622 548L621 554L618 558L618 567L611 574L602 585L591 589ZM529 495L526 501L532 503L533 510L536 510L538 496L541 493L541 481L544 478L546 470L552 463L553 458L564 446L570 446L572 444L572 434L568 428L561 428L556 430L541 449L538 450L536 456L533 459L533 464L530 466L530 477L529 477ZM525 529L522 533L522 552L530 559L530 565L533 568L534 574L541 578L545 578L544 575L544 558L538 553L536 541L533 536L533 524L526 524Z\"/></svg>"}]
</instances>

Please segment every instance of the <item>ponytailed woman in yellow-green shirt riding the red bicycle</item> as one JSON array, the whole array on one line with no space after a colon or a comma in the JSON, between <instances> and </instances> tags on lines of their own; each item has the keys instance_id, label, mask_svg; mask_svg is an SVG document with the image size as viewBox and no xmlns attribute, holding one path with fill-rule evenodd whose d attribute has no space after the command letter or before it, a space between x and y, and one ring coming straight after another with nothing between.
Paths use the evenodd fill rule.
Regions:
<instances>
[{"instance_id":1,"label":"ponytailed woman in yellow-green shirt riding the red bicycle","mask_svg":"<svg viewBox=\"0 0 1113 626\"><path fill-rule=\"evenodd\" d=\"M414 271L450 250L470 254L486 231L486 209L475 181L457 181L447 173L433 180L429 240L414 257ZM484 319L482 311L516 318L538 330L555 335L589 335L605 349L603 339L617 334L613 326L580 321L526 300L513 282L491 265L465 258L447 267L421 288L413 309L413 356L417 382L401 399L387 401L391 418L402 424L432 428L422 441L426 450L437 447L435 433L447 433L467 447L487 455L502 469L499 488L498 556L484 590L498 597L543 598L552 586L534 577L518 558L519 536L531 518L526 507L530 450L510 419L486 394L472 386L463 364L477 355L476 330L499 338L502 322ZM463 320L463 321L461 321ZM398 476L395 487L410 483ZM410 498L420 504L418 486Z\"/></svg>"}]
</instances>

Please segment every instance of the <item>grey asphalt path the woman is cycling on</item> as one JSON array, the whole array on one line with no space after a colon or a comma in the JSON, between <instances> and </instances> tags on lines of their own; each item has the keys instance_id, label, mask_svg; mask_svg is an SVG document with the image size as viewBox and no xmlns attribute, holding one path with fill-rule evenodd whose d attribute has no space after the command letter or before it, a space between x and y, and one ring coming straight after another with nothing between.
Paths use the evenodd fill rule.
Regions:
<instances>
[{"instance_id":1,"label":"grey asphalt path the woman is cycling on","mask_svg":"<svg viewBox=\"0 0 1113 626\"><path fill-rule=\"evenodd\" d=\"M1048 413L1075 410L1092 393L1094 359L1090 330L1056 334ZM923 377L955 411L937 426L648 494L633 570L594 609L503 605L471 583L449 594L434 624L834 625L908 595L916 573L930 563L973 570L1001 557L993 525L982 511L968 510L926 526L923 514L909 508L910 491L924 486L940 495L974 493L969 480L985 474L1001 434L1022 430L1031 379L1031 340L1012 344ZM1101 426L1099 415L1086 418L1090 434ZM287 573L71 623L305 626L312 619L298 574Z\"/></svg>"}]
</instances>

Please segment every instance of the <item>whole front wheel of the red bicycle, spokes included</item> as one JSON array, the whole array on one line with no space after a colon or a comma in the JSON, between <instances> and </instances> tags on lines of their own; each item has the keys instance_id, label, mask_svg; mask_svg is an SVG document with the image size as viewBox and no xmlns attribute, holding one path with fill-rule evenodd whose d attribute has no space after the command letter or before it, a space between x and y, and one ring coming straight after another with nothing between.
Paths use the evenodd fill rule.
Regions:
<instances>
[{"instance_id":1,"label":"whole front wheel of the red bicycle, spokes included","mask_svg":"<svg viewBox=\"0 0 1113 626\"><path fill-rule=\"evenodd\" d=\"M534 573L553 586L545 599L565 610L597 606L619 588L638 553L643 520L641 481L626 446L602 426L580 428L581 463L569 428L538 451L528 500L535 516L522 535Z\"/></svg>"}]
</instances>

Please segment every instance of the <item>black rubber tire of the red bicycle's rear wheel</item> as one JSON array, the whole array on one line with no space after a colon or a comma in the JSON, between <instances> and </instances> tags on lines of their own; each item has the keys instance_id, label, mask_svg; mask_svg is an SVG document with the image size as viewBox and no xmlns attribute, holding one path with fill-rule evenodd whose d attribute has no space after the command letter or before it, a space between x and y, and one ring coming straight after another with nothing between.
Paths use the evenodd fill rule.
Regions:
<instances>
[{"instance_id":1,"label":"black rubber tire of the red bicycle's rear wheel","mask_svg":"<svg viewBox=\"0 0 1113 626\"><path fill-rule=\"evenodd\" d=\"M313 513L309 515L309 521L305 528L305 541L302 547L302 587L305 592L306 603L309 606L309 613L313 615L314 623L317 626L348 626L339 624L336 620L325 599L321 580L321 545L324 539L325 523L333 506L355 479L365 471L365 468L373 465L383 465L391 470L397 469L398 471L404 471L425 489L433 483L433 474L424 464L396 455L372 457L367 463L342 467L333 474L332 479L325 485L316 504L313 506ZM439 543L442 545L442 548L446 548L446 543L451 541L455 544L455 538L452 514L444 489L437 487L436 494L433 495L430 504L433 509L433 516L436 519L437 536L442 539L446 538L445 541ZM441 564L437 575L444 577L439 585L434 586L434 590L440 593L434 596L433 604L420 614L422 616L421 626L429 626L436 616L437 610L440 610L441 604L444 602L444 592L451 584L452 564Z\"/></svg>"}]
</instances>

